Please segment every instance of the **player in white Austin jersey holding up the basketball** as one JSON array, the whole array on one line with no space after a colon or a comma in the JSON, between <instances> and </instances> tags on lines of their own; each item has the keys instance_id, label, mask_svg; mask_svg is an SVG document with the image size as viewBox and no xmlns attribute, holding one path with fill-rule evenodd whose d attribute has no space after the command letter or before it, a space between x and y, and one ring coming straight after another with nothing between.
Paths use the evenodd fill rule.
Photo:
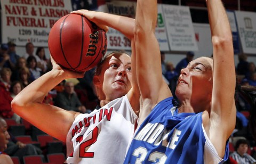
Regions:
<instances>
[{"instance_id":1,"label":"player in white Austin jersey holding up the basketball","mask_svg":"<svg viewBox=\"0 0 256 164\"><path fill-rule=\"evenodd\" d=\"M102 24L121 31L131 39L133 49L134 19L80 12L103 28ZM93 78L101 109L90 114L41 104L44 96L63 79L84 75L61 68L53 59L53 69L23 89L12 101L12 108L47 134L63 142L67 139L67 163L123 163L140 107L137 81L132 78L134 59L134 54L131 58L124 52L103 57Z\"/></svg>"}]
</instances>

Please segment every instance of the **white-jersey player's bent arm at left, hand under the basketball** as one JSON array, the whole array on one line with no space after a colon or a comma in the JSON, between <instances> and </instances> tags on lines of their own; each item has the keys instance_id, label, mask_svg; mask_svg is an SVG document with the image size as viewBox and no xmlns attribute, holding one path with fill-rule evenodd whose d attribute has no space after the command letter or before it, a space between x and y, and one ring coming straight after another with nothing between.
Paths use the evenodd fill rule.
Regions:
<instances>
[{"instance_id":1,"label":"white-jersey player's bent arm at left, hand under the basketball","mask_svg":"<svg viewBox=\"0 0 256 164\"><path fill-rule=\"evenodd\" d=\"M63 70L53 60L53 69L24 88L11 105L15 113L47 134L66 142L75 114L57 106L41 104L45 95L62 80L83 77L84 73Z\"/></svg>"}]
</instances>

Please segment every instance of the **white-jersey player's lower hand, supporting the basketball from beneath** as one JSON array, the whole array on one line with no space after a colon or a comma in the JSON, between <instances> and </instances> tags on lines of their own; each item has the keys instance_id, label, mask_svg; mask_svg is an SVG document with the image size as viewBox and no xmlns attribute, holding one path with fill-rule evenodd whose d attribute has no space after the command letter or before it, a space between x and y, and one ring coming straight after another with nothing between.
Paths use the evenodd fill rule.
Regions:
<instances>
[{"instance_id":1,"label":"white-jersey player's lower hand, supporting the basketball from beneath","mask_svg":"<svg viewBox=\"0 0 256 164\"><path fill-rule=\"evenodd\" d=\"M62 72L63 74L65 74L66 78L82 78L82 77L84 77L85 72L75 72L75 71L70 71L68 69L60 67L60 65L54 61L52 56L51 56L51 62L52 62L52 70Z\"/></svg>"}]
</instances>

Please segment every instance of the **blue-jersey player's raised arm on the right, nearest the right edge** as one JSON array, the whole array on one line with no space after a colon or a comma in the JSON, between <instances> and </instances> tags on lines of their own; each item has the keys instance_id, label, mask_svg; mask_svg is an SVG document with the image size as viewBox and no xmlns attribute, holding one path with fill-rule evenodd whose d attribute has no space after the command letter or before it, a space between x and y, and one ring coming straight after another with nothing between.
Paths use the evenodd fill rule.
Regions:
<instances>
[{"instance_id":1,"label":"blue-jersey player's raised arm on the right, nearest the right edge","mask_svg":"<svg viewBox=\"0 0 256 164\"><path fill-rule=\"evenodd\" d=\"M225 143L233 132L236 118L233 40L221 0L206 0L206 3L213 45L213 93L210 121L203 123L217 151L224 153ZM214 137L217 134L219 137Z\"/></svg>"}]
</instances>

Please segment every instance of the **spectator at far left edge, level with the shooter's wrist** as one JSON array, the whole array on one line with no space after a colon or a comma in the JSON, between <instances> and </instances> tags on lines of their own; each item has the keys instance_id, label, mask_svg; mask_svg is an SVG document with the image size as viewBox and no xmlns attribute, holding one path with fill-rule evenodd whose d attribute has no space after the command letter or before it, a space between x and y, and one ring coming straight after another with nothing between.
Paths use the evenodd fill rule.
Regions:
<instances>
[{"instance_id":1,"label":"spectator at far left edge, level with the shooter's wrist","mask_svg":"<svg viewBox=\"0 0 256 164\"><path fill-rule=\"evenodd\" d=\"M3 87L6 91L9 91L11 87L12 71L10 68L3 68L1 70L0 87Z\"/></svg>"}]
</instances>

